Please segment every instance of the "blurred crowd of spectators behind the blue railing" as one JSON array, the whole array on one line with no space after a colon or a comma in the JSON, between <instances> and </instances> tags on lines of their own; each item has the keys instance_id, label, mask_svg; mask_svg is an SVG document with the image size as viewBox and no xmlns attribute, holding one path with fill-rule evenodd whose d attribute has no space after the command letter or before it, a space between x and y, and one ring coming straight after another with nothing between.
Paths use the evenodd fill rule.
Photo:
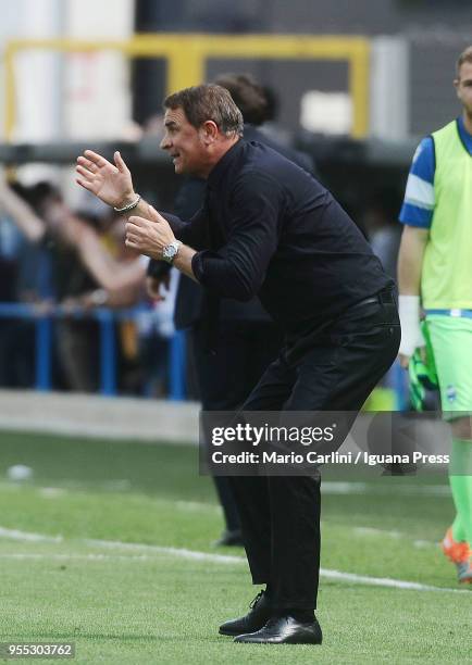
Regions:
<instances>
[{"instance_id":1,"label":"blurred crowd of spectators behind the blue railing","mask_svg":"<svg viewBox=\"0 0 472 665\"><path fill-rule=\"evenodd\" d=\"M129 316L115 317L114 323L119 392L166 393L175 284L162 302L146 296L147 260L125 247L124 224L107 206L71 210L49 181L26 187L1 175L0 303L27 304L33 313L21 316L24 309L0 310L1 387L34 386L35 314L50 314L52 388L96 392L100 385L97 311L108 308L129 311Z\"/></svg>"}]
</instances>

